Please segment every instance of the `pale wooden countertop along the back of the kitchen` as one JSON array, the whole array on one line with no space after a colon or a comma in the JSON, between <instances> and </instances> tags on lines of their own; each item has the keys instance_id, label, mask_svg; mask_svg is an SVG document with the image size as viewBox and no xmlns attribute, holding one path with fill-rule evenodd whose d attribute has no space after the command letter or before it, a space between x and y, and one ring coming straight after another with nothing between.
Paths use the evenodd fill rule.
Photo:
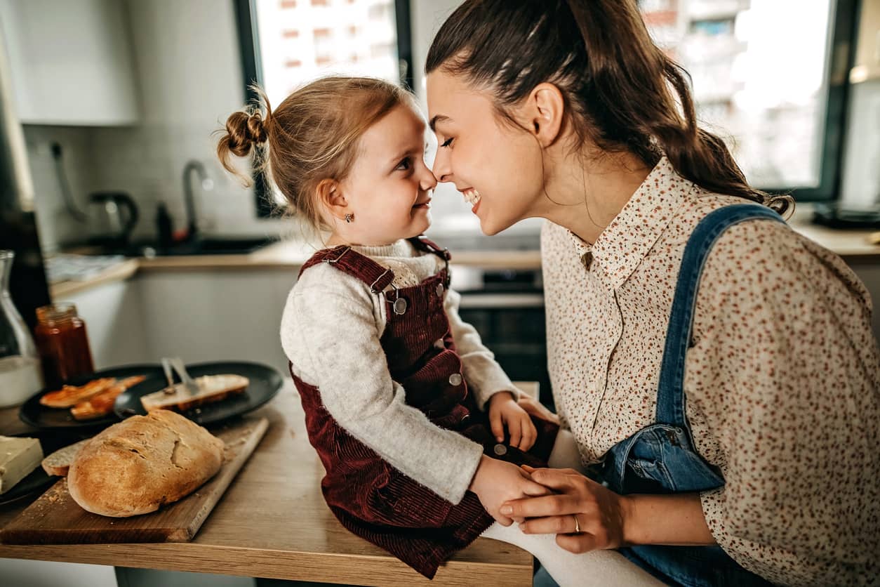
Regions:
<instances>
[{"instance_id":1,"label":"pale wooden countertop along the back of the kitchen","mask_svg":"<svg viewBox=\"0 0 880 587\"><path fill-rule=\"evenodd\" d=\"M788 224L807 238L825 246L843 257L851 265L880 262L880 242L872 231L839 231L812 224L812 207L802 204ZM872 242L872 237L875 242ZM442 238L439 239L442 243ZM53 283L49 292L52 299L89 290L101 283L127 279L137 272L194 271L194 270L265 270L298 268L308 260L315 249L302 240L282 240L250 254L167 256L130 259L120 266L82 282ZM486 269L536 269L541 266L539 251L452 251L454 265Z\"/></svg>"}]
</instances>

